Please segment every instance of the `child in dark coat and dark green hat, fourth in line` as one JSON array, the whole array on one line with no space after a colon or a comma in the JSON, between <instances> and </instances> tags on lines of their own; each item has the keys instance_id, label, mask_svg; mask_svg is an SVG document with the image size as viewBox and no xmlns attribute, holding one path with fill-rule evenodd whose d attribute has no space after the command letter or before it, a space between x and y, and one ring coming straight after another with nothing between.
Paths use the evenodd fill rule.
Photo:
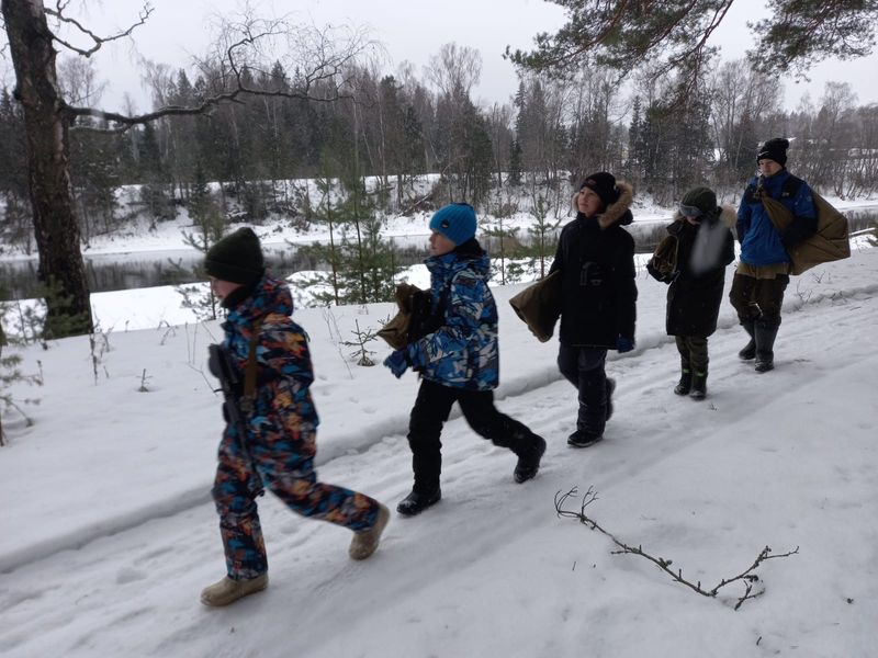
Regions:
<instances>
[{"instance_id":1,"label":"child in dark coat and dark green hat, fourth in line","mask_svg":"<svg viewBox=\"0 0 878 658\"><path fill-rule=\"evenodd\" d=\"M703 399L707 395L707 339L717 330L725 285L725 265L734 260L732 208L717 206L708 188L695 188L683 197L668 237L646 263L646 271L667 290L666 330L680 355L677 395ZM669 252L669 258L664 253Z\"/></svg>"}]
</instances>

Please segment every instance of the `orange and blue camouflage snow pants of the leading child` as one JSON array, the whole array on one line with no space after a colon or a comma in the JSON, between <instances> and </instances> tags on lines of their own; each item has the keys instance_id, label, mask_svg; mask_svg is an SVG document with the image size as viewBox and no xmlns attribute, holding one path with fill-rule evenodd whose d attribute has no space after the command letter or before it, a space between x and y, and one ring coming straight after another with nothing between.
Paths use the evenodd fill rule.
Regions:
<instances>
[{"instance_id":1,"label":"orange and blue camouflage snow pants of the leading child","mask_svg":"<svg viewBox=\"0 0 878 658\"><path fill-rule=\"evenodd\" d=\"M301 454L303 444L313 445L314 432L305 436L296 434L248 444L252 466L266 488L303 517L353 531L372 526L378 519L378 501L358 491L318 483L314 458ZM268 571L252 466L241 454L235 430L227 428L219 443L212 494L219 514L226 569L234 580L256 578Z\"/></svg>"}]
</instances>

